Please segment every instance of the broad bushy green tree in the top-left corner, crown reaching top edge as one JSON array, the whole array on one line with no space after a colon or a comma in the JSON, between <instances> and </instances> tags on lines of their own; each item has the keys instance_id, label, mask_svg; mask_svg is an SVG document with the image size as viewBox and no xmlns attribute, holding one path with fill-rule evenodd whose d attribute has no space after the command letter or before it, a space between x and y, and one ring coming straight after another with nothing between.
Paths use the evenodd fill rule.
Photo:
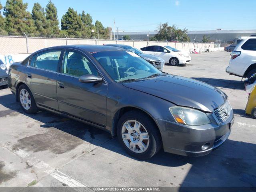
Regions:
<instances>
[{"instance_id":1,"label":"broad bushy green tree in the top-left corner, crown reaching top edge","mask_svg":"<svg viewBox=\"0 0 256 192\"><path fill-rule=\"evenodd\" d=\"M36 32L34 20L26 11L27 3L22 0L7 0L4 7L5 28L9 34L33 34Z\"/></svg>"}]
</instances>

